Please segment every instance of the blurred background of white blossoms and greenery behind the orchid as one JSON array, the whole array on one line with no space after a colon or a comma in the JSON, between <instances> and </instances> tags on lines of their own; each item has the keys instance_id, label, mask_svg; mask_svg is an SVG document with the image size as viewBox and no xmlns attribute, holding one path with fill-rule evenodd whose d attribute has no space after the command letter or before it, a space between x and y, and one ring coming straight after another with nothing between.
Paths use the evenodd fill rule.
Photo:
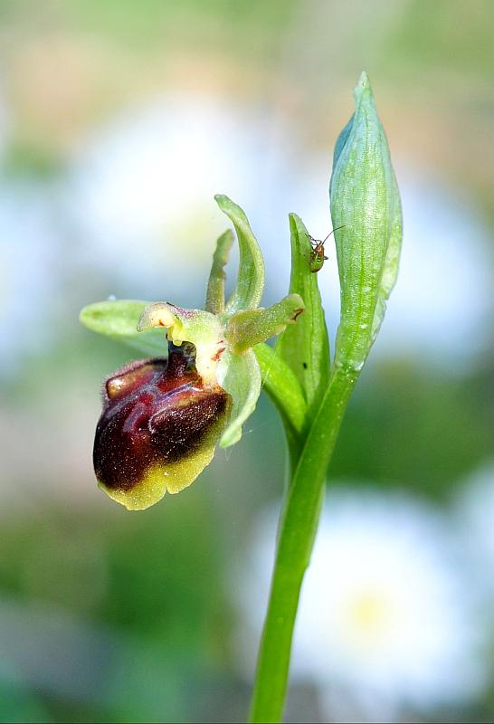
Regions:
<instances>
[{"instance_id":1,"label":"blurred background of white blossoms and greenery behind the orchid","mask_svg":"<svg viewBox=\"0 0 494 724\"><path fill-rule=\"evenodd\" d=\"M286 293L287 214L331 229L363 69L404 252L331 463L287 719L494 719L493 32L489 0L1 0L1 721L244 720L280 422L261 399L191 488L129 514L91 447L132 351L77 317L200 306L218 192L251 219L265 301Z\"/></svg>"}]
</instances>

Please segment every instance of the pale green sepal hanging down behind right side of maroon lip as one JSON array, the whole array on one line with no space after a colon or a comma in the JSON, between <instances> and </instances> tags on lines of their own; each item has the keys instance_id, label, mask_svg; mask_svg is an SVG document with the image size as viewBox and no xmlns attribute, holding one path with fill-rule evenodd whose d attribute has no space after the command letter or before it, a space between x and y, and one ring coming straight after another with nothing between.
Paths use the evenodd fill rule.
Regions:
<instances>
[{"instance_id":1,"label":"pale green sepal hanging down behind right side of maroon lip","mask_svg":"<svg viewBox=\"0 0 494 724\"><path fill-rule=\"evenodd\" d=\"M252 349L243 355L227 349L218 365L218 382L233 398L230 422L220 439L220 447L229 447L241 439L242 424L255 410L261 395L261 369Z\"/></svg>"}]
</instances>

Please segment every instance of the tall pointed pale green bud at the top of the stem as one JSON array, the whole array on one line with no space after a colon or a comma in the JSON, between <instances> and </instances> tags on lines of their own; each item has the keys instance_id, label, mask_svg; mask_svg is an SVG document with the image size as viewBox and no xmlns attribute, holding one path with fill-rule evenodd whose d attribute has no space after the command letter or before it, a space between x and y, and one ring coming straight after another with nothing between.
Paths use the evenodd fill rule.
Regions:
<instances>
[{"instance_id":1,"label":"tall pointed pale green bud at the top of the stem","mask_svg":"<svg viewBox=\"0 0 494 724\"><path fill-rule=\"evenodd\" d=\"M385 315L402 243L400 196L366 73L335 148L331 216L341 285L335 365L359 371Z\"/></svg>"}]
</instances>

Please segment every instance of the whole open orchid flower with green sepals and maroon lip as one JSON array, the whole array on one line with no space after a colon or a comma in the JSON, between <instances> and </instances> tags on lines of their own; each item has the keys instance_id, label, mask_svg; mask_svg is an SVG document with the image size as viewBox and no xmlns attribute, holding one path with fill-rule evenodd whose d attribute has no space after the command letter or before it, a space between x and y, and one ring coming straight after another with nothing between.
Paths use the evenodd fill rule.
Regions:
<instances>
[{"instance_id":1,"label":"whole open orchid flower with green sepals and maroon lip","mask_svg":"<svg viewBox=\"0 0 494 724\"><path fill-rule=\"evenodd\" d=\"M89 329L159 356L120 370L105 386L95 470L100 486L130 510L189 485L211 461L216 442L228 447L240 440L261 394L253 348L304 310L298 293L268 309L259 306L264 289L259 244L242 209L224 195L216 201L232 220L240 247L238 280L227 302L223 266L231 231L216 244L205 310L117 300L81 311ZM173 365L169 357L166 367L167 345Z\"/></svg>"}]
</instances>

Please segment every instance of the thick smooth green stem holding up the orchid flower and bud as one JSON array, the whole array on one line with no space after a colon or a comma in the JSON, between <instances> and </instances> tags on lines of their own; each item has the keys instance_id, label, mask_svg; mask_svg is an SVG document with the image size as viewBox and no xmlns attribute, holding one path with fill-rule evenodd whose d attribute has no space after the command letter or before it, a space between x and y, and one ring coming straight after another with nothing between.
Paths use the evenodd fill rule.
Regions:
<instances>
[{"instance_id":1,"label":"thick smooth green stem holding up the orchid flower and bud","mask_svg":"<svg viewBox=\"0 0 494 724\"><path fill-rule=\"evenodd\" d=\"M300 586L318 528L328 462L357 377L354 370L336 368L287 493L252 695L252 722L278 722L283 714Z\"/></svg>"}]
</instances>

